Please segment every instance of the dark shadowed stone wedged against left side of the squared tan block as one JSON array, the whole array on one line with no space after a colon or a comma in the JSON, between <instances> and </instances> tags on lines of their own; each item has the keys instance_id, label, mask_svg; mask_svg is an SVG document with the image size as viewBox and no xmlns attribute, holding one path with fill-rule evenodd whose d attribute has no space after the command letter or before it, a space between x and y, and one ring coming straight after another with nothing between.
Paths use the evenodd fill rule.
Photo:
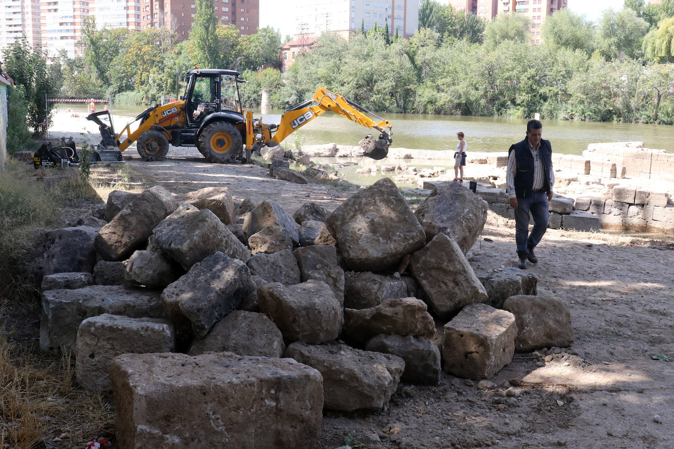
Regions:
<instances>
[{"instance_id":1,"label":"dark shadowed stone wedged against left side of the squared tan block","mask_svg":"<svg viewBox=\"0 0 674 449\"><path fill-rule=\"evenodd\" d=\"M440 350L429 339L413 335L377 335L365 345L366 351L398 355L405 361L400 380L417 385L440 383Z\"/></svg>"}]
</instances>

